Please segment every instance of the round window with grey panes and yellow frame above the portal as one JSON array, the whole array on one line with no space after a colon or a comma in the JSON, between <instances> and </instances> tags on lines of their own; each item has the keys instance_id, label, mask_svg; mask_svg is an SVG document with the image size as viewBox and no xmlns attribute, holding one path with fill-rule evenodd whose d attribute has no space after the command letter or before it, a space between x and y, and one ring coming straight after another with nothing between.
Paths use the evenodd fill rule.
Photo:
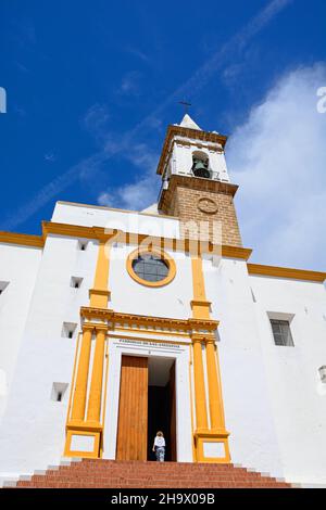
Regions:
<instances>
[{"instance_id":1,"label":"round window with grey panes and yellow frame above the portal","mask_svg":"<svg viewBox=\"0 0 326 510\"><path fill-rule=\"evenodd\" d=\"M136 250L128 256L127 269L138 283L148 286L162 286L175 277L175 264L160 251Z\"/></svg>"}]
</instances>

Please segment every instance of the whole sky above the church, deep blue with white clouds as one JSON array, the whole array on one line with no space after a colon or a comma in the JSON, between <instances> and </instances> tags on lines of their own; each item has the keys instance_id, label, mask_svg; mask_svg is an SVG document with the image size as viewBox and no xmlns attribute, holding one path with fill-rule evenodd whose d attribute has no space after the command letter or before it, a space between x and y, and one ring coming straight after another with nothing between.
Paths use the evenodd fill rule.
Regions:
<instances>
[{"instance_id":1,"label":"whole sky above the church, deep blue with white clouds","mask_svg":"<svg viewBox=\"0 0 326 510\"><path fill-rule=\"evenodd\" d=\"M150 205L166 126L186 99L202 128L230 135L254 259L325 269L324 0L2 0L0 10L1 229L39 233L57 200Z\"/></svg>"}]
</instances>

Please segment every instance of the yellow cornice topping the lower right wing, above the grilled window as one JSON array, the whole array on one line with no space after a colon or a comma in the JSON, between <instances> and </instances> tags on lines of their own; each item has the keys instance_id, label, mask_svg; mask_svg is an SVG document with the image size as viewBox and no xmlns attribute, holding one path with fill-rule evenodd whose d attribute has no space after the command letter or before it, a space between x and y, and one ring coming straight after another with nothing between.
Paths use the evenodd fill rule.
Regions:
<instances>
[{"instance_id":1,"label":"yellow cornice topping the lower right wing, above the grilled window","mask_svg":"<svg viewBox=\"0 0 326 510\"><path fill-rule=\"evenodd\" d=\"M259 275L290 280L305 280L323 283L326 272L310 271L305 269L292 269L289 267L263 266L260 264L247 264L249 275Z\"/></svg>"}]
</instances>

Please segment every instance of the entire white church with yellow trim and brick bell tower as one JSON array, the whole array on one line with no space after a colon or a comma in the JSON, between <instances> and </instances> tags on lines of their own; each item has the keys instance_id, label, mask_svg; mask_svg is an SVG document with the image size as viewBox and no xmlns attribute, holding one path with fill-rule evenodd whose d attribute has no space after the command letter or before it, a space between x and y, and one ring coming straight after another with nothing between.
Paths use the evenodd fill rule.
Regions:
<instances>
[{"instance_id":1,"label":"entire white church with yellow trim and brick bell tower","mask_svg":"<svg viewBox=\"0 0 326 510\"><path fill-rule=\"evenodd\" d=\"M162 430L166 460L326 484L326 272L250 263L225 143L186 115L158 204L0 232L0 477Z\"/></svg>"}]
</instances>

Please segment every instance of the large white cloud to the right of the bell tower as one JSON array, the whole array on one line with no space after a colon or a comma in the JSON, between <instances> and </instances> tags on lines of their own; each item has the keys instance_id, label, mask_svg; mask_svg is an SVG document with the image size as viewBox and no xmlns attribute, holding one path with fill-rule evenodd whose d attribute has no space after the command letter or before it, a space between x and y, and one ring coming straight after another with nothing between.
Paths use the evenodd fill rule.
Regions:
<instances>
[{"instance_id":1,"label":"large white cloud to the right of the bell tower","mask_svg":"<svg viewBox=\"0 0 326 510\"><path fill-rule=\"evenodd\" d=\"M326 114L317 89L326 64L284 76L228 143L237 211L252 259L325 270Z\"/></svg>"}]
</instances>

